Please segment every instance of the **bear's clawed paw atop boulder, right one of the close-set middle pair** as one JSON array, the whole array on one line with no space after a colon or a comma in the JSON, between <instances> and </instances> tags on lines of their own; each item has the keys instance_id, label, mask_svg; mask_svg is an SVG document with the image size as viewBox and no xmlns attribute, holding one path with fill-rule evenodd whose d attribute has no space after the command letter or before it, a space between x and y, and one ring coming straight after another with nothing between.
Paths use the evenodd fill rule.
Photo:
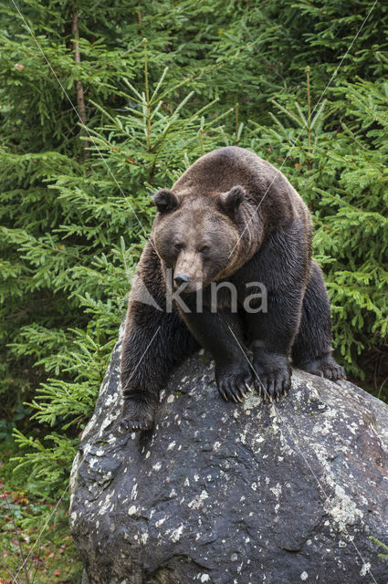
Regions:
<instances>
[{"instance_id":1,"label":"bear's clawed paw atop boulder, right one of the close-set middle pair","mask_svg":"<svg viewBox=\"0 0 388 584\"><path fill-rule=\"evenodd\" d=\"M291 386L291 368L287 357L278 354L261 353L253 360L257 373L256 387L263 401L278 401L281 395L286 395Z\"/></svg>"}]
</instances>

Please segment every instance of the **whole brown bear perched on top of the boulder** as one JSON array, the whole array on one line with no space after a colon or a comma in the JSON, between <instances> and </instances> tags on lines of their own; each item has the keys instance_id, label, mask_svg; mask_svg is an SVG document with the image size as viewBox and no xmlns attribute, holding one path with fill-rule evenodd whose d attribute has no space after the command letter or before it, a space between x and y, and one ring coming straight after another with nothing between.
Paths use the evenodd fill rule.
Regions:
<instances>
[{"instance_id":1,"label":"whole brown bear perched on top of the boulder","mask_svg":"<svg viewBox=\"0 0 388 584\"><path fill-rule=\"evenodd\" d=\"M220 148L153 202L158 214L122 345L121 427L152 427L169 373L199 347L215 360L225 400L242 401L252 388L278 400L290 387L289 358L315 375L344 376L331 356L330 302L311 260L309 210L278 169L242 148Z\"/></svg>"}]
</instances>

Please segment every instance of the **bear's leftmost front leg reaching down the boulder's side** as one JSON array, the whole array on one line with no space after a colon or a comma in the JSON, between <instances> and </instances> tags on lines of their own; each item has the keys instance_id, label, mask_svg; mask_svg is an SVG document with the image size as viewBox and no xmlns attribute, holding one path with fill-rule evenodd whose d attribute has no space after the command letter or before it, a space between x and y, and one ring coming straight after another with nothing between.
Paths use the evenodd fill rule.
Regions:
<instances>
[{"instance_id":1,"label":"bear's leftmost front leg reaching down the boulder's side","mask_svg":"<svg viewBox=\"0 0 388 584\"><path fill-rule=\"evenodd\" d=\"M169 374L196 349L184 322L166 305L160 260L148 242L132 283L122 342L121 430L152 428Z\"/></svg>"}]
</instances>

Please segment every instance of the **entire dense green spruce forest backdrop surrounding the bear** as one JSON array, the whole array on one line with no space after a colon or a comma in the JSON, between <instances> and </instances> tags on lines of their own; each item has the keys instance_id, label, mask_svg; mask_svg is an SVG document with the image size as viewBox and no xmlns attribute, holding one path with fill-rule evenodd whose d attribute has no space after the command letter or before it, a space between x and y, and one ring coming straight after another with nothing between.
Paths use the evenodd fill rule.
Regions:
<instances>
[{"instance_id":1,"label":"entire dense green spruce forest backdrop surrounding the bear","mask_svg":"<svg viewBox=\"0 0 388 584\"><path fill-rule=\"evenodd\" d=\"M150 194L225 144L282 167L309 204L337 356L369 387L374 374L386 399L388 5L351 45L372 5L21 3L62 87L1 5L0 435L19 428L35 492L67 484L150 233ZM89 135L68 101L79 80Z\"/></svg>"}]
</instances>

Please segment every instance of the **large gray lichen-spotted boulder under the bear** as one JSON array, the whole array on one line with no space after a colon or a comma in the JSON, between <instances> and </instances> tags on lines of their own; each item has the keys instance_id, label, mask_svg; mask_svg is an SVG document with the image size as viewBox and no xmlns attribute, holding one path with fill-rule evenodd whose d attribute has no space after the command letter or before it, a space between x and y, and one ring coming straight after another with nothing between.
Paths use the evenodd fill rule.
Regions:
<instances>
[{"instance_id":1,"label":"large gray lichen-spotted boulder under the bear","mask_svg":"<svg viewBox=\"0 0 388 584\"><path fill-rule=\"evenodd\" d=\"M225 402L197 354L154 430L121 434L120 342L71 475L89 584L387 584L388 407L294 370L278 403Z\"/></svg>"}]
</instances>

